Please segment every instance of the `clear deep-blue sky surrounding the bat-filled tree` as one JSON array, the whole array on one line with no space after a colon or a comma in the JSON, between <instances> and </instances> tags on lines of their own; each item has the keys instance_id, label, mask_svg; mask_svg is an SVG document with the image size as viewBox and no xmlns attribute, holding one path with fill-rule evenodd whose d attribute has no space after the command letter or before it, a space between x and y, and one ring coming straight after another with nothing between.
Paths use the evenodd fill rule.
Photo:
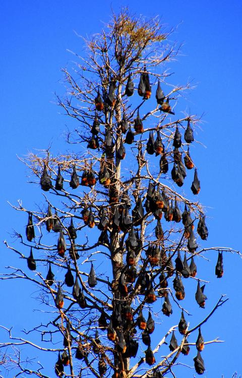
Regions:
<instances>
[{"instance_id":1,"label":"clear deep-blue sky surrounding the bat-filled tree","mask_svg":"<svg viewBox=\"0 0 242 378\"><path fill-rule=\"evenodd\" d=\"M159 2L83 2L73 0L30 1L2 0L0 3L1 35L1 240L10 238L12 228L24 230L26 220L11 210L7 201L21 199L26 208L41 201L36 187L27 184L28 171L17 159L29 150L44 149L50 142L55 151L64 147L67 117L59 114L54 92L63 93L59 82L60 69L71 67L74 55L67 49L82 54L81 41L74 31L86 36L96 33L108 21L110 9L118 11L129 5L130 10L145 16L160 15L163 22L176 28L171 40L184 43L177 61L172 63L175 83L191 80L197 84L191 91L188 107L193 113L204 114L198 139L206 148L198 146L193 151L199 167L201 202L207 206L209 239L207 244L240 248L241 211L241 87L242 3L238 0L194 2L170 0ZM13 255L2 246L1 271L6 265L17 265ZM214 278L217 254L208 256L213 262L205 269L211 278L207 287L209 300L206 313L221 293L230 300L220 308L204 327L204 336L219 336L226 342L207 346L203 352L206 377L231 377L234 371L242 374L240 341L241 330L241 260L224 256L224 278ZM12 290L16 285L9 283ZM17 299L19 316L10 314L14 304L9 299L9 286L2 284L2 311L0 324L23 328L25 320L32 318L32 302L25 310ZM19 283L18 283L19 285ZM36 288L23 285L24 300L34 296ZM8 290L8 291L7 291ZM17 294L21 290L19 286ZM28 294L28 295L27 295ZM26 297L25 297L26 296ZM37 303L33 302L37 307ZM202 318L205 311L202 314ZM201 316L201 315L200 315ZM235 341L236 340L236 341ZM195 350L182 359L193 365ZM184 370L192 377L194 370Z\"/></svg>"}]
</instances>

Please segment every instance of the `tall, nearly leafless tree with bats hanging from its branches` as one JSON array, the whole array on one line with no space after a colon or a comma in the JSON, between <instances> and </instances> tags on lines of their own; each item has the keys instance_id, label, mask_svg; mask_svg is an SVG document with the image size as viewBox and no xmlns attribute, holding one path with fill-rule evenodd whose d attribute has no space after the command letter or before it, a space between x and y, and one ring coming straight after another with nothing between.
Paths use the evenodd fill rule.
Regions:
<instances>
[{"instance_id":1,"label":"tall, nearly leafless tree with bats hanging from its branches","mask_svg":"<svg viewBox=\"0 0 242 378\"><path fill-rule=\"evenodd\" d=\"M199 117L174 113L189 85L167 83L166 64L178 52L168 36L157 18L147 21L127 10L113 15L100 34L85 41L88 55L79 57L74 73L64 70L67 95L57 100L80 122L67 135L75 152L53 156L48 149L23 159L48 196L43 194L45 205L35 210L20 202L15 207L28 216L27 241L16 232L26 254L6 245L35 274L9 268L2 278L37 284L41 309L52 312L46 323L28 331L39 336L38 345L12 336L12 330L7 330L10 342L1 345L55 352L57 376L174 374L179 355L188 354L195 344L194 364L201 374L204 344L218 342L204 342L202 326L226 299L221 296L193 328L182 305L183 281L188 279L188 285L196 281L195 299L205 307L206 277L199 268L196 277L196 265L211 248L199 248L195 236L195 231L202 240L208 236L203 207L180 189L189 181L193 196L200 191L189 151ZM186 168L192 170L192 179L186 178ZM218 250L217 277L223 274L222 250L230 248ZM172 327L154 345L159 318L166 324L165 316L172 311ZM160 359L165 343L167 355ZM20 351L14 352L15 357L6 358L6 368L46 376L42 361L30 368Z\"/></svg>"}]
</instances>

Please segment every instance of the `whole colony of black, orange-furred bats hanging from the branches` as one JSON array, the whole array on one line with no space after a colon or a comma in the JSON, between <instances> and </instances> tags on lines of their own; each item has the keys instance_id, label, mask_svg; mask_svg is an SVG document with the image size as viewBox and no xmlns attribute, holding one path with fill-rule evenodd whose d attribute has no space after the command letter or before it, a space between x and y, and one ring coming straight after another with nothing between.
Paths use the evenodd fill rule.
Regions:
<instances>
[{"instance_id":1,"label":"whole colony of black, orange-furred bats hanging from the branches","mask_svg":"<svg viewBox=\"0 0 242 378\"><path fill-rule=\"evenodd\" d=\"M96 115L94 122L91 127L91 138L88 140L88 148L90 149L99 149L99 131L100 131L100 122L98 118L99 111L105 111L107 107L113 108L116 103L115 85L111 81L109 89L102 99L102 96L98 90L97 96L95 98L95 109ZM129 76L125 95L132 96L134 94L134 82L131 75ZM138 85L138 94L144 100L147 100L151 96L151 85L149 80L149 74L144 68L144 72L140 75L140 81ZM160 81L158 81L156 89L156 101L160 105L160 111L164 113L174 114L171 110L169 104L169 98L165 97L161 86ZM157 106L158 106L157 105ZM137 116L133 120L134 130L136 134L144 132L143 122L139 114L139 109L137 111ZM125 134L125 140L123 137L120 138L119 146L115 146L111 129L106 129L105 141L104 141L104 153L109 154L111 151L116 151L116 159L122 160L126 156L126 150L124 143L132 144L134 142L135 133L131 129L130 122L126 118L125 114L123 119L118 125L122 134ZM191 127L190 119L188 118L187 128L185 131L184 139L189 145L194 141L193 129ZM178 129L178 124L176 124L175 133L173 136L173 167L171 169L171 178L172 180L180 187L184 183L184 179L187 175L187 169L193 169L194 163L190 156L189 147L185 153L184 163L181 159L181 151L179 148L182 145L181 134ZM166 158L167 153L165 152L165 147L162 142L161 132L157 129L156 138L154 137L153 132L150 131L148 142L146 145L147 154L160 156L160 172L168 172L168 160ZM105 154L104 154L105 157ZM168 294L168 278L172 277L175 274L173 279L173 289L175 292L175 297L177 300L183 300L185 298L185 287L182 281L182 278L186 279L189 277L195 277L197 274L197 267L194 261L195 251L198 248L196 242L196 237L194 234L194 220L192 220L190 210L188 209L187 204L185 204L185 209L181 213L177 198L173 201L168 199L164 191L160 191L160 186L149 182L148 190L146 195L143 197L139 196L136 198L136 205L132 210L132 215L130 214L131 210L131 200L128 194L128 191L124 191L122 194L117 193L115 189L115 183L113 182L112 172L108 168L108 165L103 162L103 159L100 163L100 172L98 177L95 177L92 169L84 169L82 171L82 176L80 177L77 173L76 166L73 166L73 172L71 174L70 186L73 189L76 189L80 184L82 186L90 186L96 184L97 179L99 183L102 184L105 188L108 189L108 198L109 204L111 205L112 212L107 211L105 207L100 207L98 214L94 214L90 206L84 206L81 212L82 219L85 225L90 228L93 228L97 225L97 228L101 231L98 238L98 242L105 246L109 246L109 237L120 231L127 234L125 240L125 246L120 246L120 251L126 254L126 265L120 273L118 283L114 288L115 299L113 300L113 310L110 315L105 313L104 309L102 310L101 316L98 320L99 328L104 331L106 330L107 339L114 343L114 351L116 354L120 353L124 358L135 357L138 352L139 344L135 339L137 333L137 328L142 331L141 338L143 343L147 346L145 351L145 361L147 364L152 366L155 363L155 357L151 349L151 337L150 335L154 332L155 321L152 318L151 311L149 310L148 318L145 319L143 314L144 303L152 304L156 301L156 296L163 297L164 302L162 305L162 312L166 316L170 316L172 313L172 306L169 300ZM81 180L80 180L81 178ZM62 176L61 167L58 166L58 172L56 175L55 185L52 185L51 177L48 174L47 166L44 164L43 172L40 177L40 185L43 191L49 191L51 188L56 191L62 191L64 189L64 177ZM192 182L191 190L194 195L199 194L200 192L200 181L198 179L197 169L194 171L194 180ZM120 198L119 198L120 197ZM143 201L145 203L143 205ZM145 213L146 211L146 213ZM155 236L157 241L150 243L145 249L145 254L147 258L147 264L143 266L140 272L137 272L136 265L137 261L140 259L141 251L143 248L143 243L140 240L138 226L141 225L146 214L149 213L153 215L157 221L155 227ZM169 253L166 256L165 249L163 245L164 232L161 226L161 218L164 215L164 219L167 222L174 221L179 223L180 221L184 225L184 237L187 239L187 248L191 257L187 258L185 252L184 258L181 258L180 250L176 250L175 266L172 263L172 257ZM46 229L47 231L54 231L59 233L57 241L57 254L59 257L64 258L67 250L67 244L65 240L65 235L71 240L71 248L69 249L70 258L72 260L77 260L79 258L78 250L75 245L75 239L77 238L77 230L75 229L73 218L69 227L67 228L68 232L64 232L57 213L52 214L51 207L48 205L48 210L46 214ZM203 240L206 240L208 237L208 229L205 223L205 217L200 216L199 222L197 225L197 233ZM35 238L34 225L32 220L32 214L29 213L28 224L26 227L26 235L28 241L32 241ZM32 247L30 250L30 256L27 259L27 264L30 270L36 270L36 261L33 257ZM153 267L159 267L159 284L155 285L153 272L150 274L146 271L146 267L150 264L151 270ZM72 287L73 297L76 299L77 303L81 308L86 308L87 298L84 294L83 289L79 285L78 276L74 278L70 263L67 266L67 273L65 275L65 284L68 287ZM223 275L223 257L222 253L219 252L218 260L215 268L215 274L218 278ZM51 264L49 264L48 273L46 276L46 284L51 286L54 283L54 274L51 271ZM94 271L93 265L91 265L91 270L88 275L88 286L93 288L97 285L96 274ZM200 280L198 280L197 291L195 294L195 299L198 305L202 308L205 307L205 301L207 299L204 294L205 285L200 285ZM137 312L131 307L130 295L133 292L136 292L138 295L144 295L143 304L140 306L140 310ZM117 300L116 300L117 299ZM57 288L57 294L55 296L55 305L58 309L64 307L64 294L62 292L62 286L59 284ZM137 312L137 313L136 313ZM178 331L181 335L186 335L187 332L187 322L185 320L184 311L181 312L181 317L178 325ZM73 337L71 335L70 323L67 323L66 333L64 337L64 347L69 347L72 345ZM95 337L91 342L92 351L98 355L98 371L102 377L107 370L107 365L101 348L101 342L96 330ZM178 347L177 340L175 338L175 333L172 333L169 349L170 351L175 350ZM197 356L194 358L195 369L198 374L202 374L205 370L204 361L201 356L201 351L204 348L204 339L199 328L199 335L196 342L196 347L198 350ZM185 355L189 353L189 345L187 339L181 350ZM115 357L114 353L114 357ZM84 350L82 347L81 340L78 343L76 348L77 359L87 358L88 351ZM67 366L70 363L69 355L66 350L61 354L58 354L58 359L55 364L55 373L57 376L64 375L64 366ZM112 378L119 378L119 371L114 371ZM154 371L153 376L159 378L162 375L159 371Z\"/></svg>"}]
</instances>

